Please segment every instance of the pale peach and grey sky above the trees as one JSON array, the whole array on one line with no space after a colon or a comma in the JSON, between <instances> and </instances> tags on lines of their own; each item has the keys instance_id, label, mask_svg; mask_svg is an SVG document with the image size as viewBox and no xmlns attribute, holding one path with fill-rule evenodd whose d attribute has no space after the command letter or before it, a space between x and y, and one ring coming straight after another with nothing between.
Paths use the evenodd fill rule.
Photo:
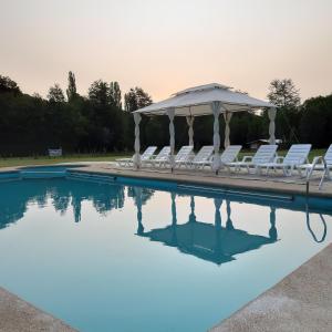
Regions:
<instances>
[{"instance_id":1,"label":"pale peach and grey sky above the trees","mask_svg":"<svg viewBox=\"0 0 332 332\"><path fill-rule=\"evenodd\" d=\"M221 83L266 98L292 79L332 93L331 0L0 0L0 74L46 96L68 72L142 86L154 101Z\"/></svg>"}]
</instances>

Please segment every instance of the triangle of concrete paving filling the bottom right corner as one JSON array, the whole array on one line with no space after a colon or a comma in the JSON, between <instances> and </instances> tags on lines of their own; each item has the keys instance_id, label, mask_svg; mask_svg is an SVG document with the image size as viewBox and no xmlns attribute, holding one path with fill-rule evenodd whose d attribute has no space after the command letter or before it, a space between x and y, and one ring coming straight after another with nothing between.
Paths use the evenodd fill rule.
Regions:
<instances>
[{"instance_id":1,"label":"triangle of concrete paving filling the bottom right corner","mask_svg":"<svg viewBox=\"0 0 332 332\"><path fill-rule=\"evenodd\" d=\"M332 331L332 245L211 332Z\"/></svg>"}]
</instances>

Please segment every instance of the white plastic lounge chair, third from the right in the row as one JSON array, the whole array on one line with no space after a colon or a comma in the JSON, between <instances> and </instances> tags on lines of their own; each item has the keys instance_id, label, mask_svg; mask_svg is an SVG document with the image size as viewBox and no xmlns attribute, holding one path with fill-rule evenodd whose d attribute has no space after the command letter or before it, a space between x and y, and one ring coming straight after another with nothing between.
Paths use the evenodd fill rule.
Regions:
<instances>
[{"instance_id":1,"label":"white plastic lounge chair, third from the right in the row","mask_svg":"<svg viewBox=\"0 0 332 332\"><path fill-rule=\"evenodd\" d=\"M260 165L271 163L277 155L278 145L269 144L261 145L253 156L243 156L241 162L226 162L224 165L229 169L234 167L236 172L240 172L242 167L246 167L248 174L250 167L255 168L255 173L260 172Z\"/></svg>"}]
</instances>

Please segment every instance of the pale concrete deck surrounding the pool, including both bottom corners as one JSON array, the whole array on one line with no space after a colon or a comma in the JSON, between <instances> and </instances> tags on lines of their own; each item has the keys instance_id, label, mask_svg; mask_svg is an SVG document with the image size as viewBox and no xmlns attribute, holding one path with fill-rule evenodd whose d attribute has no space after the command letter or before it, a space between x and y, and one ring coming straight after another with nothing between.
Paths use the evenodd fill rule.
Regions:
<instances>
[{"instance_id":1,"label":"pale concrete deck surrounding the pool, including both bottom corners","mask_svg":"<svg viewBox=\"0 0 332 332\"><path fill-rule=\"evenodd\" d=\"M17 169L17 167L1 168L0 173ZM228 175L226 172L221 172L218 176L215 176L211 172L176 170L170 174L169 170L123 169L110 163L85 165L80 168L80 172L282 194L304 195L307 191L303 179L297 176L284 178L280 174L271 177L258 177L245 173ZM310 195L332 198L332 181L326 181L322 190L319 190L318 183L319 178L311 181ZM287 276L270 290L212 328L211 331L331 331L331 256L332 245ZM0 331L74 330L0 289Z\"/></svg>"}]
</instances>

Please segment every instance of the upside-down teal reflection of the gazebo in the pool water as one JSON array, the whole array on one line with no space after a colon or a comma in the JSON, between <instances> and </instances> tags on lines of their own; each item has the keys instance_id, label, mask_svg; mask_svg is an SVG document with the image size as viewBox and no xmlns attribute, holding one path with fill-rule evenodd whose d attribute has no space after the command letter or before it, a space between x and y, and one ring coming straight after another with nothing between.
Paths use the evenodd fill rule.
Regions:
<instances>
[{"instance_id":1,"label":"upside-down teal reflection of the gazebo in the pool water","mask_svg":"<svg viewBox=\"0 0 332 332\"><path fill-rule=\"evenodd\" d=\"M250 235L245 230L236 229L232 225L230 214L230 201L227 205L227 221L221 225L220 207L222 199L215 198L215 224L206 224L196 220L195 200L190 197L190 208L188 221L183 225L177 224L175 194L172 194L172 225L144 232L142 224L142 211L137 214L137 235L147 237L152 241L158 241L169 247L176 247L179 251L196 256L200 259L221 264L234 260L234 256L249 250L255 250L263 245L277 241L276 209L270 212L269 237Z\"/></svg>"}]
</instances>

